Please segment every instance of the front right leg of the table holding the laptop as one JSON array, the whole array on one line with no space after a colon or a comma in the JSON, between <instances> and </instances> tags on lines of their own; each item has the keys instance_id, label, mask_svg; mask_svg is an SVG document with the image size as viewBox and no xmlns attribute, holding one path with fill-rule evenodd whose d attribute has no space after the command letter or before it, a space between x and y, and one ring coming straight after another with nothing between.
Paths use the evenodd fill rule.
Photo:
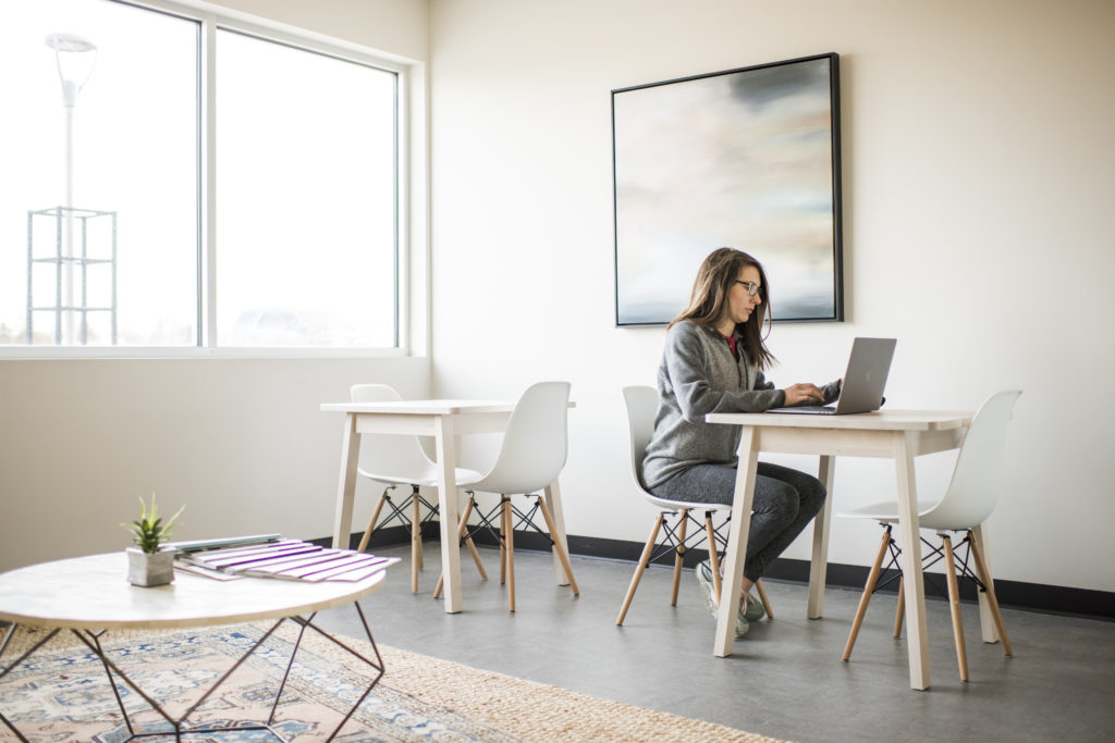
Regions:
<instances>
[{"instance_id":1,"label":"front right leg of the table holding the laptop","mask_svg":"<svg viewBox=\"0 0 1115 743\"><path fill-rule=\"evenodd\" d=\"M899 486L899 546L906 608L906 647L910 686L929 688L929 638L925 633L925 585L921 569L921 532L918 526L918 483L914 478L913 434L894 434L894 468Z\"/></svg>"}]
</instances>

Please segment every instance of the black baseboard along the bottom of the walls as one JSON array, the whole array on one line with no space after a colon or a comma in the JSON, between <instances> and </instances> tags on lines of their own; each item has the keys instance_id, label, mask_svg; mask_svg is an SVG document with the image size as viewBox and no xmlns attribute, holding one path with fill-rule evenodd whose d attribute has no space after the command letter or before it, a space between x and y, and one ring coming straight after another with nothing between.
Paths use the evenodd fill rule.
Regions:
<instances>
[{"instance_id":1,"label":"black baseboard along the bottom of the walls","mask_svg":"<svg viewBox=\"0 0 1115 743\"><path fill-rule=\"evenodd\" d=\"M351 549L356 549L360 542L359 534L353 534L349 544ZM424 539L438 538L438 525L436 521L423 525ZM497 541L493 535L477 534L474 540L478 545L495 547ZM314 539L316 544L328 545L328 538ZM407 544L410 541L410 529L407 527L390 527L376 531L369 540L369 548L386 547L391 545ZM638 563L642 554L642 544L637 541L626 541L622 539L603 539L599 537L579 537L569 535L569 551L572 555L584 557L600 557L604 559L622 560L626 563ZM549 551L550 539L533 531L515 531L515 549L532 551ZM683 565L692 568L697 563L708 559L708 551L704 549L690 549L686 553ZM672 565L673 554L662 555L655 560L656 564ZM830 563L825 574L825 585L841 588L862 589L867 580L869 568L860 565L843 565L841 563ZM809 581L808 560L797 560L778 558L770 566L766 574L770 580L785 580L788 583L807 584ZM888 583L889 581L889 583ZM898 571L886 570L879 579L880 592L898 593ZM1001 606L1016 609L1027 609L1041 612L1044 614L1060 614L1065 616L1085 617L1089 619L1102 619L1115 622L1115 593L1105 590L1090 590L1088 588L1067 588L1065 586L1046 586L1036 583L1022 583L1020 580L995 581L996 595ZM947 597L948 592L944 585L944 576L938 574L925 574L925 595L928 597ZM964 580L960 585L960 598L963 602L976 600L976 587L970 580Z\"/></svg>"}]
</instances>

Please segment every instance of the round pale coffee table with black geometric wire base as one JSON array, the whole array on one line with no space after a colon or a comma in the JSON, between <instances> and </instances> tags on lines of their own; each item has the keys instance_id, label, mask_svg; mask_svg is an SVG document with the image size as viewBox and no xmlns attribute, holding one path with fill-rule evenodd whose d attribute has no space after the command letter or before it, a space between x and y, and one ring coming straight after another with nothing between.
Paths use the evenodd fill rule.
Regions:
<instances>
[{"instance_id":1,"label":"round pale coffee table with black geometric wire base","mask_svg":"<svg viewBox=\"0 0 1115 743\"><path fill-rule=\"evenodd\" d=\"M352 711L371 692L382 675L384 665L376 649L368 624L360 610L359 599L379 590L386 573L380 571L362 580L330 580L306 583L272 578L239 578L236 580L214 580L197 575L175 571L174 583L154 588L139 588L127 580L127 556L124 550L107 555L75 557L54 563L42 563L0 574L0 620L11 622L4 639L0 643L0 658L18 625L51 628L42 641L7 666L0 666L0 678L18 667L47 641L61 629L69 629L105 666L109 683L116 690L113 674L126 682L148 704L169 723L180 735L187 731L186 718L209 698L229 675L255 651L284 620L291 619L303 627L312 628L326 636L313 624L313 616L321 609L352 604L360 614L368 641L376 653L375 662L345 647L352 655L379 671L360 700L329 740L340 731ZM309 615L302 618L300 615ZM212 625L278 619L274 625L253 645L232 668L221 676L193 706L178 718L166 712L130 678L128 678L101 651L99 637L106 629L168 629L180 627L203 627ZM301 639L301 635L299 635ZM291 651L293 663L298 644ZM279 687L275 701L282 695L285 678ZM117 700L119 694L117 693ZM132 722L120 704L124 720L132 730ZM230 730L265 730L282 740L270 727L274 716L263 724L250 724ZM12 731L14 726L0 714L0 722ZM17 732L17 736L22 736ZM172 733L173 734L173 733ZM129 739L130 740L130 739Z\"/></svg>"}]
</instances>

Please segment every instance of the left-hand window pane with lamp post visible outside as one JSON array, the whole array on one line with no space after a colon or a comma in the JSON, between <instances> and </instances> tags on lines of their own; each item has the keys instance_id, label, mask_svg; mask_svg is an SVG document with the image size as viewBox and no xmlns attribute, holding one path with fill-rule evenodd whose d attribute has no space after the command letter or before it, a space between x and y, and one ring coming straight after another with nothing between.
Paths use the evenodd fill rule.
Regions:
<instances>
[{"instance_id":1,"label":"left-hand window pane with lamp post visible outside","mask_svg":"<svg viewBox=\"0 0 1115 743\"><path fill-rule=\"evenodd\" d=\"M0 25L0 343L196 343L198 39L104 1Z\"/></svg>"}]
</instances>

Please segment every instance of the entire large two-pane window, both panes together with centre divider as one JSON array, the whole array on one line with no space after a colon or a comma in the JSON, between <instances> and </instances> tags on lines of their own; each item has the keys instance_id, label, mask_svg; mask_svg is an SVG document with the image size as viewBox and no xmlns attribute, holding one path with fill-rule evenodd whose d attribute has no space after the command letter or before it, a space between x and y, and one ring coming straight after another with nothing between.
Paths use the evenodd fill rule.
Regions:
<instances>
[{"instance_id":1,"label":"entire large two-pane window, both panes together with centre divider","mask_svg":"<svg viewBox=\"0 0 1115 743\"><path fill-rule=\"evenodd\" d=\"M0 26L0 345L397 348L403 69L166 8Z\"/></svg>"}]
</instances>

